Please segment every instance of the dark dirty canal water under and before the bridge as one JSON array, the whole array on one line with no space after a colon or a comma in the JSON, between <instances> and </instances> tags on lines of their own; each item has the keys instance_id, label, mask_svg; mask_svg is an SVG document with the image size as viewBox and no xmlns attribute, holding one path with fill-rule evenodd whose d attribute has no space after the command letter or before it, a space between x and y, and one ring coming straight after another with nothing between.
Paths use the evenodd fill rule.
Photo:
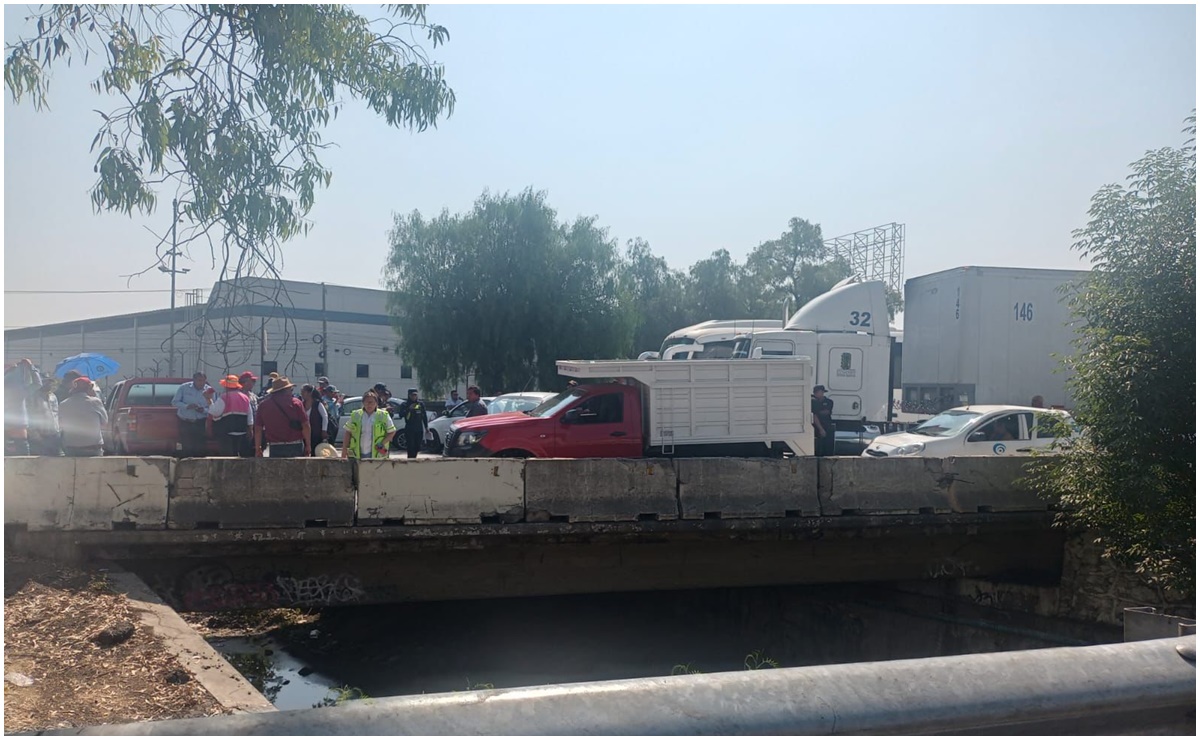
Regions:
<instances>
[{"instance_id":1,"label":"dark dirty canal water under and before the bridge","mask_svg":"<svg viewBox=\"0 0 1200 740\"><path fill-rule=\"evenodd\" d=\"M1120 642L1112 628L886 586L329 608L211 644L280 709L347 699Z\"/></svg>"}]
</instances>

